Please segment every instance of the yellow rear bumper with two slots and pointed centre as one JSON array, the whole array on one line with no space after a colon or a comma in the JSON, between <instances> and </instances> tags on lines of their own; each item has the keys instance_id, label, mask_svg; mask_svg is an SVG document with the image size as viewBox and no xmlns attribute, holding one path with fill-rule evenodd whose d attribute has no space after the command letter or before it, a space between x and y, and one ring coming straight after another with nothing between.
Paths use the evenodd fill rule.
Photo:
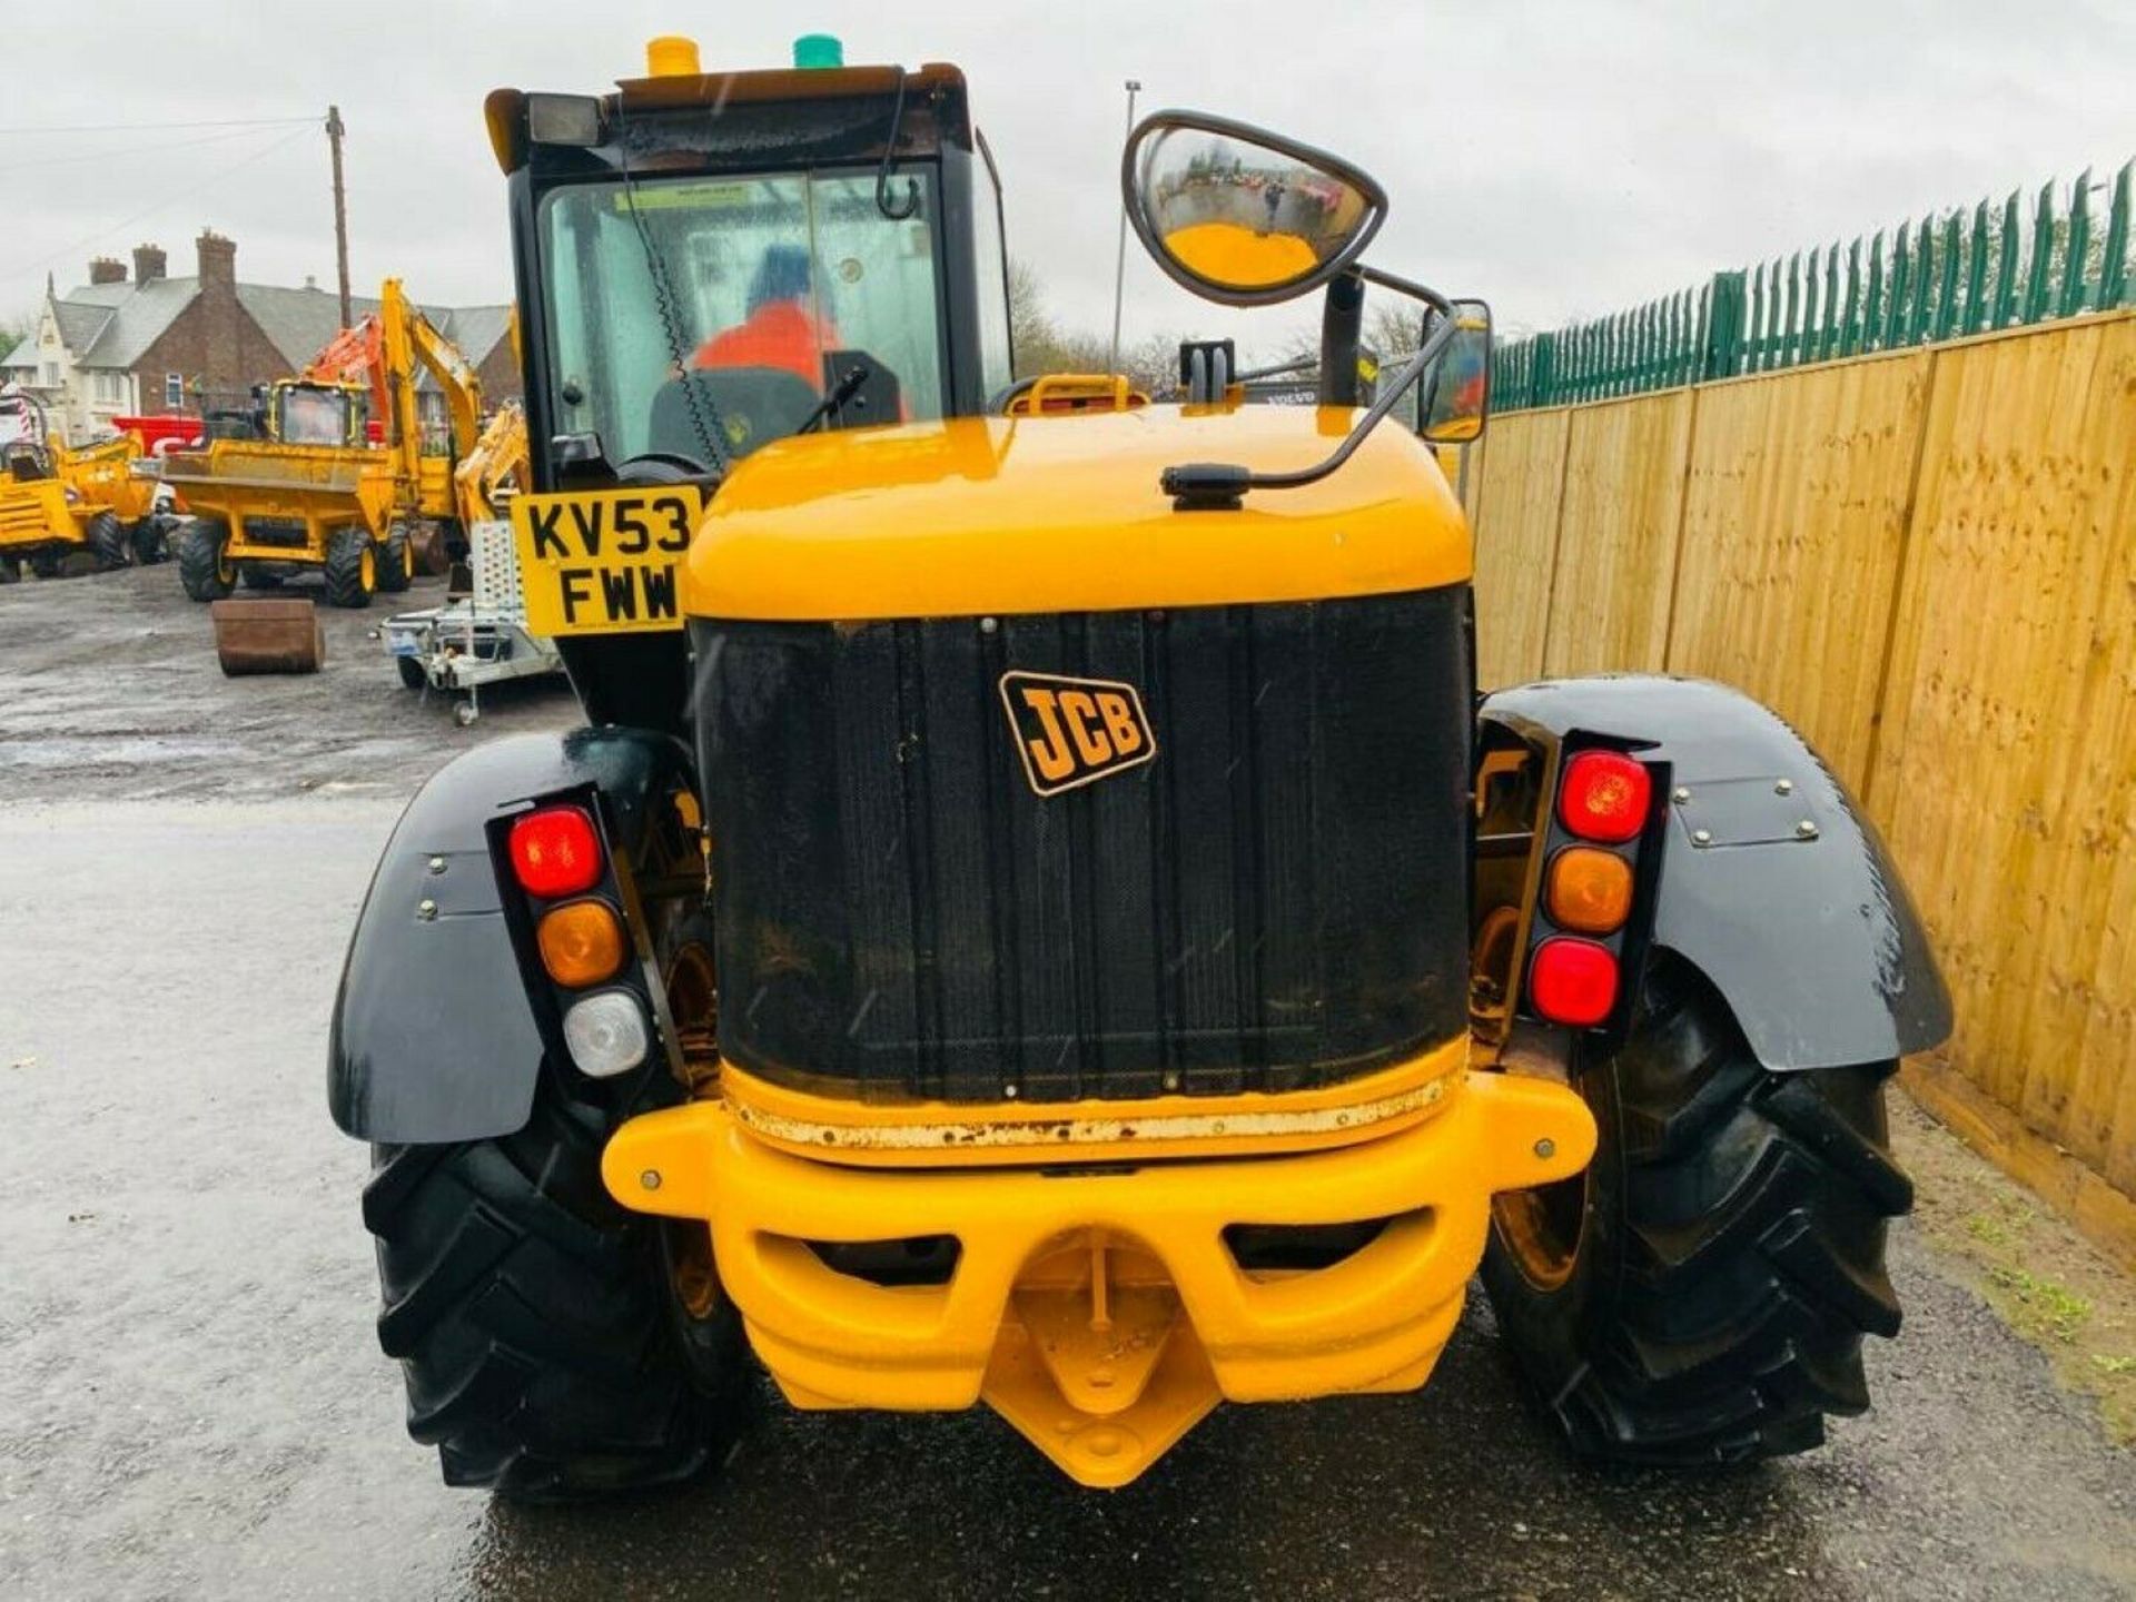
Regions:
<instances>
[{"instance_id":1,"label":"yellow rear bumper with two slots and pointed centre","mask_svg":"<svg viewBox=\"0 0 2136 1602\"><path fill-rule=\"evenodd\" d=\"M1593 1151L1570 1089L1465 1074L1440 1111L1354 1145L1134 1171L863 1171L773 1149L722 1102L626 1124L626 1207L711 1226L720 1277L797 1405L989 1401L1085 1485L1124 1485L1218 1399L1425 1382L1482 1256L1491 1194ZM1250 1273L1232 1224L1388 1220L1352 1256ZM810 1243L948 1235L938 1286L878 1286Z\"/></svg>"}]
</instances>

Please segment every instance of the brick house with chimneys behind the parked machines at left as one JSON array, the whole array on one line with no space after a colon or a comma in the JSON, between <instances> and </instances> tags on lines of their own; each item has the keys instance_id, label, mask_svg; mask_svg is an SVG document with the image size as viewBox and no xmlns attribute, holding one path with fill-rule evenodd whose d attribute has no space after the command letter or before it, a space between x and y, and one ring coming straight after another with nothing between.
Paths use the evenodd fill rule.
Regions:
<instances>
[{"instance_id":1,"label":"brick house with chimneys behind the parked machines at left","mask_svg":"<svg viewBox=\"0 0 2136 1602\"><path fill-rule=\"evenodd\" d=\"M47 276L36 327L0 361L0 382L36 395L81 442L109 434L113 417L244 404L252 384L299 372L340 331L340 297L318 284L237 282L237 244L214 229L194 252L192 278L171 278L158 246L135 248L132 278L111 256L66 295ZM361 318L378 301L357 295L352 308ZM508 305L423 312L476 370L485 399L519 395Z\"/></svg>"}]
</instances>

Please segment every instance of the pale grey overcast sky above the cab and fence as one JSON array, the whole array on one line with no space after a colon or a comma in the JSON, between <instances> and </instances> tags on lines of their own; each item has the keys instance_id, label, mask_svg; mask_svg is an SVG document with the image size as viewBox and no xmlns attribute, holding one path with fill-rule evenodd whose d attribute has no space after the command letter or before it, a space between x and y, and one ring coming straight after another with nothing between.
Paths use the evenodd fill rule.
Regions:
<instances>
[{"instance_id":1,"label":"pale grey overcast sky above the cab and fence","mask_svg":"<svg viewBox=\"0 0 2136 1602\"><path fill-rule=\"evenodd\" d=\"M500 83L598 90L643 41L707 66L951 60L1008 188L1010 250L1066 320L1111 316L1121 81L1143 109L1226 111L1344 152L1388 188L1373 261L1553 327L1719 267L2068 179L2136 154L2136 0L9 0L0 30L0 316L96 252L152 239L192 271L203 224L250 282L333 284L316 126L23 132L79 124L348 122L359 290L508 295L483 135ZM1299 308L1220 314L1130 241L1128 333L1279 342Z\"/></svg>"}]
</instances>

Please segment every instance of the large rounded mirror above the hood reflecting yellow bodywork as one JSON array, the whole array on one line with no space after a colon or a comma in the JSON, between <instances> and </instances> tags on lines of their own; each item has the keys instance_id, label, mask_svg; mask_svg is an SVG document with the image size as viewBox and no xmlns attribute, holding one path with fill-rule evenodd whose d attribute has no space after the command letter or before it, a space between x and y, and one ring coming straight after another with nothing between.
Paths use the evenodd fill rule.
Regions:
<instances>
[{"instance_id":1,"label":"large rounded mirror above the hood reflecting yellow bodywork","mask_svg":"<svg viewBox=\"0 0 2136 1602\"><path fill-rule=\"evenodd\" d=\"M1339 156L1200 111L1145 117L1119 184L1156 263L1224 305L1275 305L1326 284L1386 220L1386 190Z\"/></svg>"}]
</instances>

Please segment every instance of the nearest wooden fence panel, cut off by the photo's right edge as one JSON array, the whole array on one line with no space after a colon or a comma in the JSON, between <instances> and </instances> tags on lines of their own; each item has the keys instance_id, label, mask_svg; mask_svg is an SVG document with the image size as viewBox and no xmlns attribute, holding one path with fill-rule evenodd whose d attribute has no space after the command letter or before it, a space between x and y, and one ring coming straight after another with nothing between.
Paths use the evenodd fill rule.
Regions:
<instances>
[{"instance_id":1,"label":"nearest wooden fence panel, cut off by the photo's right edge","mask_svg":"<svg viewBox=\"0 0 2136 1602\"><path fill-rule=\"evenodd\" d=\"M1871 810L1952 1066L2136 1194L2136 318L1935 363Z\"/></svg>"}]
</instances>

